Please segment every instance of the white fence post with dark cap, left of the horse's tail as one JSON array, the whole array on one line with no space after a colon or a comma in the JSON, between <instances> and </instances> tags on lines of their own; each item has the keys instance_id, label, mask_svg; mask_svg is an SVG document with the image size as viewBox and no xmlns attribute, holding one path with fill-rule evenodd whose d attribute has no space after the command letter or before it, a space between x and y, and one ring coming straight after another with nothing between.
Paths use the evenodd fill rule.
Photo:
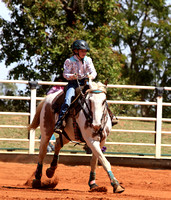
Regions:
<instances>
[{"instance_id":1,"label":"white fence post with dark cap, left of the horse's tail","mask_svg":"<svg viewBox=\"0 0 171 200\"><path fill-rule=\"evenodd\" d=\"M30 123L32 122L34 115L36 113L36 81L30 81L29 86L31 89L31 100L30 100ZM34 146L35 146L35 130L30 130L29 137L29 154L34 154Z\"/></svg>"}]
</instances>

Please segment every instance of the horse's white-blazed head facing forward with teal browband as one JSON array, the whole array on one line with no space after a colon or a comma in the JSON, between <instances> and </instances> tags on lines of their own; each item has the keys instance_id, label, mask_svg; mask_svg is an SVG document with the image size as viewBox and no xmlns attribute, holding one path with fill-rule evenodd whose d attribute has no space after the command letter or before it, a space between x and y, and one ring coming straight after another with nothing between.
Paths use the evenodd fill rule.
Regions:
<instances>
[{"instance_id":1,"label":"horse's white-blazed head facing forward with teal browband","mask_svg":"<svg viewBox=\"0 0 171 200\"><path fill-rule=\"evenodd\" d=\"M92 127L98 131L103 126L105 115L107 114L106 107L106 85L98 82L90 82L90 89L87 99L89 100L90 110L92 113Z\"/></svg>"}]
</instances>

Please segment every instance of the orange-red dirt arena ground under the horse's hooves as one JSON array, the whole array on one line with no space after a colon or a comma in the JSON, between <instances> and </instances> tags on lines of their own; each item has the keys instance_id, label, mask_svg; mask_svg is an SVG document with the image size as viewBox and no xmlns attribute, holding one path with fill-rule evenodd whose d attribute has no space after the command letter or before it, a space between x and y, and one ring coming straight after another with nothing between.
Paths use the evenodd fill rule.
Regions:
<instances>
[{"instance_id":1,"label":"orange-red dirt arena ground under the horse's hooves","mask_svg":"<svg viewBox=\"0 0 171 200\"><path fill-rule=\"evenodd\" d=\"M48 166L44 165L43 181ZM114 194L102 166L97 168L96 183L105 186L107 192L89 191L89 166L63 164L58 165L54 189L33 189L30 183L35 168L35 164L0 162L0 200L171 200L171 170L112 166L125 187L125 192Z\"/></svg>"}]
</instances>

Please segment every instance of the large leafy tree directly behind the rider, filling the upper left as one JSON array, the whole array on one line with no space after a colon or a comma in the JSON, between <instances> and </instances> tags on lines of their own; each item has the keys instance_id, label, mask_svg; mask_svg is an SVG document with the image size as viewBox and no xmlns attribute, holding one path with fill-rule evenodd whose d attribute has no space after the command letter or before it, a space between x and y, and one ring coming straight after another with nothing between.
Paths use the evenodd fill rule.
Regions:
<instances>
[{"instance_id":1,"label":"large leafy tree directly behind the rider, filling the upper left","mask_svg":"<svg viewBox=\"0 0 171 200\"><path fill-rule=\"evenodd\" d=\"M112 54L112 49L109 48L111 42L107 38L111 19L98 13L100 10L100 13L103 12L106 16L116 5L110 8L114 1L111 1L110 5L103 5L104 2L99 1L99 5L95 4L94 7L91 1L81 0L8 2L12 11L12 22L1 19L0 60L5 59L7 66L17 63L10 72L10 77L47 81L53 74L62 73L64 60L72 53L70 45L75 39L88 41L93 49L91 52L95 50L95 53L101 55L106 53L106 57L107 53ZM88 10L90 6L94 13L91 16L91 11ZM95 18L95 14L101 16L101 19ZM94 58L96 57L95 55ZM95 64L107 63L100 56L98 59L94 60ZM112 70L118 70L118 56L113 53L112 59ZM96 67L100 69L101 66Z\"/></svg>"}]
</instances>

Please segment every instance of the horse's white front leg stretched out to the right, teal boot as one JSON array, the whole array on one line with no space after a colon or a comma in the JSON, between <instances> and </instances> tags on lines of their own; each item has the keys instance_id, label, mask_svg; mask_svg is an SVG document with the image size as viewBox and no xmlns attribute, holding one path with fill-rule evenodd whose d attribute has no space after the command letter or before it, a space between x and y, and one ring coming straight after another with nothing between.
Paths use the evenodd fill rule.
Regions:
<instances>
[{"instance_id":1,"label":"horse's white front leg stretched out to the right, teal boot","mask_svg":"<svg viewBox=\"0 0 171 200\"><path fill-rule=\"evenodd\" d=\"M125 189L119 184L115 176L113 175L111 171L111 165L108 162L108 160L105 158L103 155L101 148L100 148L100 142L99 141L94 141L93 139L89 139L89 142L87 142L88 146L91 148L93 154L97 157L97 159L100 161L102 164L103 168L107 172L109 178L110 178L110 183L113 187L113 192L114 193L121 193Z\"/></svg>"}]
</instances>

